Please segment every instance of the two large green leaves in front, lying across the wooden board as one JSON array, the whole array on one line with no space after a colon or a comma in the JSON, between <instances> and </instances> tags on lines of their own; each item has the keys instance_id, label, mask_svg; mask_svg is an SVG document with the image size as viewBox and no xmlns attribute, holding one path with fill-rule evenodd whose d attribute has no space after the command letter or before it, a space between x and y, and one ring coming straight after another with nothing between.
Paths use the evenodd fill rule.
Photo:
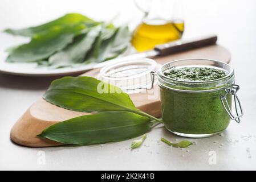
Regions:
<instances>
[{"instance_id":1,"label":"two large green leaves in front, lying across the wooden board","mask_svg":"<svg viewBox=\"0 0 256 182\"><path fill-rule=\"evenodd\" d=\"M120 88L92 77L54 80L43 98L65 109L91 113L55 123L38 135L63 144L119 142L139 137L162 123L161 119L136 109ZM133 141L131 148L139 147L144 139L145 136Z\"/></svg>"}]
</instances>

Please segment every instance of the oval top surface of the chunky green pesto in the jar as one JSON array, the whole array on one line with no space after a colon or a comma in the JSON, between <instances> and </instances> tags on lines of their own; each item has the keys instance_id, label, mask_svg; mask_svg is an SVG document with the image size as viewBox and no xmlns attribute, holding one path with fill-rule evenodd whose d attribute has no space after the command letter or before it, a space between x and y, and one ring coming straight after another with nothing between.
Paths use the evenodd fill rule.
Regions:
<instances>
[{"instance_id":1,"label":"oval top surface of the chunky green pesto in the jar","mask_svg":"<svg viewBox=\"0 0 256 182\"><path fill-rule=\"evenodd\" d=\"M165 72L164 75L180 81L211 81L225 77L226 73L215 68L186 67L170 69L170 71Z\"/></svg>"}]
</instances>

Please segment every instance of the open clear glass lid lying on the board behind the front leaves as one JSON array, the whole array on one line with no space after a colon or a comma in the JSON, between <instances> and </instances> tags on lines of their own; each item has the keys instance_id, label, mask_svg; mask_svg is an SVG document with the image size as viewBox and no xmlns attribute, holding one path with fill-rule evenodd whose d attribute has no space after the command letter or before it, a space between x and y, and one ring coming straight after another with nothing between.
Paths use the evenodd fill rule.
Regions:
<instances>
[{"instance_id":1,"label":"open clear glass lid lying on the board behind the front leaves","mask_svg":"<svg viewBox=\"0 0 256 182\"><path fill-rule=\"evenodd\" d=\"M151 72L157 72L159 68L160 64L147 58L123 61L101 68L98 79L116 85L124 92L136 93L141 89L151 89Z\"/></svg>"}]
</instances>

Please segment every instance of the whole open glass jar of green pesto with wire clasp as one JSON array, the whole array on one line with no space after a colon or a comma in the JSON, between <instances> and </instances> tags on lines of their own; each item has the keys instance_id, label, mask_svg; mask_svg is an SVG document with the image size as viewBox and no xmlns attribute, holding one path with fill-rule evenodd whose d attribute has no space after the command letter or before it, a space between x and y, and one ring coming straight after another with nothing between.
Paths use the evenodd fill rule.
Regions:
<instances>
[{"instance_id":1,"label":"whole open glass jar of green pesto with wire clasp","mask_svg":"<svg viewBox=\"0 0 256 182\"><path fill-rule=\"evenodd\" d=\"M228 64L208 59L176 60L161 67L158 80L162 120L172 133L210 137L225 130L230 118L240 122L239 86L234 84L234 70Z\"/></svg>"}]
</instances>

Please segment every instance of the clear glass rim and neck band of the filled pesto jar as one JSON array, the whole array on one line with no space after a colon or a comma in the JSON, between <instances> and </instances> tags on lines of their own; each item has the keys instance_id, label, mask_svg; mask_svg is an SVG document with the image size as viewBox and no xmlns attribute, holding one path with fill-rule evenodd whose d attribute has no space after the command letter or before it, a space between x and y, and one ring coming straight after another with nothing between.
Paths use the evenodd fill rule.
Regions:
<instances>
[{"instance_id":1,"label":"clear glass rim and neck band of the filled pesto jar","mask_svg":"<svg viewBox=\"0 0 256 182\"><path fill-rule=\"evenodd\" d=\"M178 63L180 62L180 63ZM198 63L199 62L199 63ZM227 75L218 78L216 80L208 81L184 81L176 80L164 75L164 72L172 67L216 67L217 69L223 69ZM168 88L171 90L176 90L179 92L213 92L216 90L221 90L234 84L234 69L230 67L229 64L223 61L204 59L204 58L192 58L192 59L179 59L170 61L159 69L157 72L158 82L160 87Z\"/></svg>"}]
</instances>

